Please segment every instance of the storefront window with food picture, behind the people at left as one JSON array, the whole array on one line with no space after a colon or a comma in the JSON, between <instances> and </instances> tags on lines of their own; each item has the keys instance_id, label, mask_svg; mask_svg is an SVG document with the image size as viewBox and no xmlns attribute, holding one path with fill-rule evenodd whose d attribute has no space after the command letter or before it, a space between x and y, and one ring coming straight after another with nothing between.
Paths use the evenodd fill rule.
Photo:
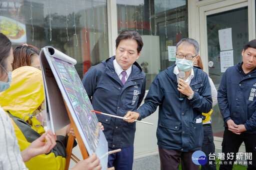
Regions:
<instances>
[{"instance_id":1,"label":"storefront window with food picture, behind the people at left","mask_svg":"<svg viewBox=\"0 0 256 170\"><path fill-rule=\"evenodd\" d=\"M80 78L108 57L106 0L1 0L0 32L13 48L50 45L76 59Z\"/></svg>"}]
</instances>

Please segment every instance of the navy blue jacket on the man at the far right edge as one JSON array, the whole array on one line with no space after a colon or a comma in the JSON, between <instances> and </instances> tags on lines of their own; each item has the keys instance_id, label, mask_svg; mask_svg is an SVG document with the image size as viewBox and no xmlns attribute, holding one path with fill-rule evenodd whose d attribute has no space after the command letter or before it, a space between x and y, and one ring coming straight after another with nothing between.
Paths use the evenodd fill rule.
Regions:
<instances>
[{"instance_id":1,"label":"navy blue jacket on the man at the far right edge","mask_svg":"<svg viewBox=\"0 0 256 170\"><path fill-rule=\"evenodd\" d=\"M218 88L218 107L224 126L232 119L244 124L246 132L256 133L256 70L244 75L241 64L226 69Z\"/></svg>"}]
</instances>

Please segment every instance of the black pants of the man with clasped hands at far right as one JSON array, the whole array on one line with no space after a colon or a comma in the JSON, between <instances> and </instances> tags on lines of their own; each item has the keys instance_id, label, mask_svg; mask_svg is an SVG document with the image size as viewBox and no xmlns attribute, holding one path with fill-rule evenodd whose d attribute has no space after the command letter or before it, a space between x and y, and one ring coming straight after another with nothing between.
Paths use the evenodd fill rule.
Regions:
<instances>
[{"instance_id":1,"label":"black pants of the man with clasped hands at far right","mask_svg":"<svg viewBox=\"0 0 256 170\"><path fill-rule=\"evenodd\" d=\"M245 145L245 152L252 153L252 160L247 160L247 170L256 170L256 134L243 132L240 135L236 135L226 127L222 141L222 153L224 153L224 160L221 161L222 165L220 165L219 170L232 170L233 163L236 159L236 153L238 153L242 142L244 142ZM233 159L232 157L227 159L227 155L230 153L234 153ZM245 153L243 153L243 158L245 158ZM236 161L238 162L239 160ZM231 164L229 164L230 162ZM249 162L252 164L249 164Z\"/></svg>"}]
</instances>

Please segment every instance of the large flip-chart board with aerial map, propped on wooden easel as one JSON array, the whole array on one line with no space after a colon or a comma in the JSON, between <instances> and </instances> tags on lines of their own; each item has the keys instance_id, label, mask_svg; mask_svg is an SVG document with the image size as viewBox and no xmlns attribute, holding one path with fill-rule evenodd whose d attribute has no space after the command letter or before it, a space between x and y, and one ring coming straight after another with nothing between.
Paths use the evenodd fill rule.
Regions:
<instances>
[{"instance_id":1,"label":"large flip-chart board with aerial map, propped on wooden easel","mask_svg":"<svg viewBox=\"0 0 256 170\"><path fill-rule=\"evenodd\" d=\"M98 126L95 113L91 112L92 105L74 68L76 60L51 46L46 46L40 52L40 61L47 128L55 132L69 123L65 102L88 155L96 153L102 170L106 170L107 141Z\"/></svg>"}]
</instances>

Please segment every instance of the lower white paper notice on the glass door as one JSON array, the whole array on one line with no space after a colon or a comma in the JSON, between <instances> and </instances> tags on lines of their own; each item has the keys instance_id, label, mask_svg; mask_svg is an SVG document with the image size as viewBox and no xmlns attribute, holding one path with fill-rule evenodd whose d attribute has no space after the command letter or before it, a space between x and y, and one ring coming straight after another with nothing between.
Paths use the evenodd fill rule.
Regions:
<instances>
[{"instance_id":1,"label":"lower white paper notice on the glass door","mask_svg":"<svg viewBox=\"0 0 256 170\"><path fill-rule=\"evenodd\" d=\"M226 69L234 65L233 50L220 51L220 71L225 72Z\"/></svg>"}]
</instances>

